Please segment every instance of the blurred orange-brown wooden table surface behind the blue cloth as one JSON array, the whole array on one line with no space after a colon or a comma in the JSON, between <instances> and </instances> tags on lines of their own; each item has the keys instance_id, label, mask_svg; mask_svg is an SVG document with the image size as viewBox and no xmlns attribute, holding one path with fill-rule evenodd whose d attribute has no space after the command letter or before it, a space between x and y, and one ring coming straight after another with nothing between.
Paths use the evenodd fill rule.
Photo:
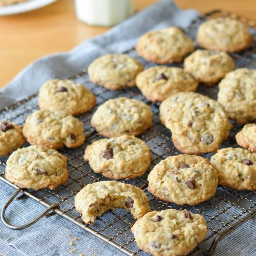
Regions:
<instances>
[{"instance_id":1,"label":"blurred orange-brown wooden table surface behind the blue cloth","mask_svg":"<svg viewBox=\"0 0 256 256\"><path fill-rule=\"evenodd\" d=\"M136 11L157 0L134 0ZM195 8L205 13L226 9L250 19L255 18L255 0L176 0L182 9ZM85 39L109 28L80 22L72 0L58 0L28 13L0 17L0 88L30 62L41 56L68 51Z\"/></svg>"}]
</instances>

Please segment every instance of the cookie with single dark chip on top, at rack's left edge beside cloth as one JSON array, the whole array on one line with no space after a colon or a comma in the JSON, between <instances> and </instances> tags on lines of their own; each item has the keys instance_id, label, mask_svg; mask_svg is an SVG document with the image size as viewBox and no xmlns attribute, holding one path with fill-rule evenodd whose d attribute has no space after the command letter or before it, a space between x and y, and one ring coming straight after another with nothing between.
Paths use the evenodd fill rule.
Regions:
<instances>
[{"instance_id":1,"label":"cookie with single dark chip on top, at rack's left edge beside cloth","mask_svg":"<svg viewBox=\"0 0 256 256\"><path fill-rule=\"evenodd\" d=\"M40 109L60 110L71 115L80 115L96 104L94 94L72 80L50 80L39 90Z\"/></svg>"}]
</instances>

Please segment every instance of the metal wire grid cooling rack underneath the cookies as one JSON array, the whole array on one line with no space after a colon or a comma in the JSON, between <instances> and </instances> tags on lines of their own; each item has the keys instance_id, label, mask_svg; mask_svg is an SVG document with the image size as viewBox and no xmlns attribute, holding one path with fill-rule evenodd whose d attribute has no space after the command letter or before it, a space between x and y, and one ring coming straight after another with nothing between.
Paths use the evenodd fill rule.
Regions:
<instances>
[{"instance_id":1,"label":"metal wire grid cooling rack underneath the cookies","mask_svg":"<svg viewBox=\"0 0 256 256\"><path fill-rule=\"evenodd\" d=\"M252 33L255 32L253 29L256 28L255 22L246 18L239 17L235 14L225 12L223 10L215 10L206 14L205 16L196 18L187 29L184 29L184 31L190 38L195 39L198 26L205 22L205 20L217 16L229 16L234 19L239 19L251 27ZM127 51L126 54L129 54L130 56L140 60L145 65L146 69L155 66L153 63L146 62L144 59L138 57L134 49ZM236 61L237 68L256 68L255 45L246 51L232 54L232 57ZM182 67L182 63L169 66ZM126 212L124 209L110 210L101 217L97 218L95 225L85 225L81 220L81 215L78 214L74 208L74 196L76 196L78 191L81 190L84 185L100 182L102 180L108 180L101 174L95 174L92 171L89 163L83 160L83 154L87 145L102 138L91 127L90 120L92 114L95 112L98 106L104 103L106 100L117 97L128 97L141 100L150 106L154 114L153 125L151 129L139 136L151 148L151 153L153 155L152 164L147 170L146 174L142 177L130 181L121 180L121 182L133 184L142 188L148 196L152 210L160 211L168 208L183 210L186 208L191 212L199 213L205 217L208 226L207 237L189 255L198 255L200 253L203 253L204 255L211 255L221 238L226 236L232 230L239 228L239 226L242 225L245 221L256 215L255 191L232 191L225 187L218 187L216 196L210 200L202 202L196 206L184 207L156 199L147 191L148 173L150 173L152 168L162 159L171 155L180 154L180 152L173 145L170 131L159 122L159 104L147 101L137 88L129 88L122 91L110 91L104 87L100 87L98 84L89 81L87 70L83 70L81 73L76 74L76 76L73 76L70 79L76 83L82 83L88 89L92 90L93 93L97 96L97 105L91 111L78 117L78 119L83 122L84 131L86 133L87 139L85 144L79 148L64 148L60 150L61 154L68 157L68 183L59 186L53 191L49 189L41 189L39 191L27 189L22 190L23 195L21 197L33 198L39 202L39 204L48 207L47 210L41 216L39 216L39 218L44 215L46 215L46 217L50 217L52 215L59 214L70 220L75 225L80 226L84 230L89 231L98 238L108 242L113 247L119 249L127 255L149 255L136 246L136 242L134 241L134 237L130 229L135 220L132 218L132 215L129 212ZM212 99L216 99L218 86L205 87L200 85L197 92L208 95ZM0 119L7 119L18 124L23 124L29 114L38 110L37 100L38 94L34 94L31 95L31 97L28 97L18 103L13 104L12 106L9 106L8 108L5 108L0 112ZM235 123L233 124L234 126L230 132L230 136L228 140L221 145L221 148L238 146L236 140L234 140L234 135L241 129L241 125ZM28 146L28 144L25 144L25 146ZM210 158L211 154L204 154L203 156ZM0 180L16 188L17 190L14 195L16 196L20 189L9 183L4 177L6 160L6 157L0 158ZM50 210L52 211L49 212ZM36 220L28 223L28 225L25 225L24 227L32 225ZM8 226L8 223L5 224ZM18 229L20 227L12 228Z\"/></svg>"}]
</instances>

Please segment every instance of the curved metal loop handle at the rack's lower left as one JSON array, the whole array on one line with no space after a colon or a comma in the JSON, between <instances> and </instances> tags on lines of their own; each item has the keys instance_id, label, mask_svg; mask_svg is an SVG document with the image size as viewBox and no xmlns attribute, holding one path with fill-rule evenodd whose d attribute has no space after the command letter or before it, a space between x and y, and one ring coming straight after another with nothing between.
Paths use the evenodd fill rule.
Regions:
<instances>
[{"instance_id":1,"label":"curved metal loop handle at the rack's lower left","mask_svg":"<svg viewBox=\"0 0 256 256\"><path fill-rule=\"evenodd\" d=\"M10 225L6 219L5 219L5 211L7 209L7 207L10 205L10 203L13 201L13 199L19 194L19 192L21 191L22 189L21 188L17 188L15 193L12 195L12 197L6 202L5 206L3 207L2 209L2 212L1 212L1 219L4 223L4 225L10 229L24 229L24 228L27 228L31 225L33 225L34 223L36 223L39 219L41 219L42 217L44 217L49 211L51 211L52 209L56 208L58 206L58 204L53 204L51 206L49 206L48 208L46 208L40 215L38 215L34 220L24 224L24 225L21 225L21 226L15 226L15 225Z\"/></svg>"}]
</instances>

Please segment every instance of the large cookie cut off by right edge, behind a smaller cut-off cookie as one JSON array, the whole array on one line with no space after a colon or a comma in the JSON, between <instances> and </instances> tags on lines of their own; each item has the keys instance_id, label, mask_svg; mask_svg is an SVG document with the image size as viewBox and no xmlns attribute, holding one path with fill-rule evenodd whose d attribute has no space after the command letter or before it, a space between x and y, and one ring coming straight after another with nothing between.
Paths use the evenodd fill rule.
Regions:
<instances>
[{"instance_id":1,"label":"large cookie cut off by right edge, behind a smaller cut-off cookie","mask_svg":"<svg viewBox=\"0 0 256 256\"><path fill-rule=\"evenodd\" d=\"M256 69L240 68L219 83L218 101L237 123L256 121Z\"/></svg>"}]
</instances>

